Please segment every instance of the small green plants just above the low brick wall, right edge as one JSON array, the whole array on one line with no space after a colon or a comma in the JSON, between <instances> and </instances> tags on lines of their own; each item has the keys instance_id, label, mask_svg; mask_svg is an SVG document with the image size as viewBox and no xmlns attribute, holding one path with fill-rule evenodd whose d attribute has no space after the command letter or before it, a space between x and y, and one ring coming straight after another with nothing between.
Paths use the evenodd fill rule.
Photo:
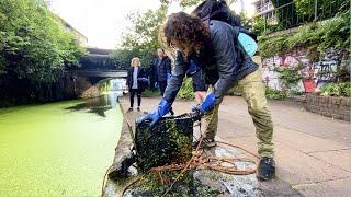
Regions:
<instances>
[{"instance_id":1,"label":"small green plants just above the low brick wall, right edge","mask_svg":"<svg viewBox=\"0 0 351 197\"><path fill-rule=\"evenodd\" d=\"M320 95L325 96L350 96L351 83L328 83L321 88Z\"/></svg>"}]
</instances>

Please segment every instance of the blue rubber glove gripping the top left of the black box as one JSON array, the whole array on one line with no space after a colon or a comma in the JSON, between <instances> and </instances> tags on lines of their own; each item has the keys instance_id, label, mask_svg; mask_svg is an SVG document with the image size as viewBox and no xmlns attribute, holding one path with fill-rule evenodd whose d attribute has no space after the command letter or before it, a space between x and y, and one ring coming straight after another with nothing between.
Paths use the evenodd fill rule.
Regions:
<instances>
[{"instance_id":1,"label":"blue rubber glove gripping the top left of the black box","mask_svg":"<svg viewBox=\"0 0 351 197\"><path fill-rule=\"evenodd\" d=\"M166 101L165 99L161 100L161 102L158 104L158 107L156 111L150 112L140 118L136 120L137 124L140 124L141 121L149 120L150 127L154 127L154 125L167 113L169 113L171 109L171 105Z\"/></svg>"}]
</instances>

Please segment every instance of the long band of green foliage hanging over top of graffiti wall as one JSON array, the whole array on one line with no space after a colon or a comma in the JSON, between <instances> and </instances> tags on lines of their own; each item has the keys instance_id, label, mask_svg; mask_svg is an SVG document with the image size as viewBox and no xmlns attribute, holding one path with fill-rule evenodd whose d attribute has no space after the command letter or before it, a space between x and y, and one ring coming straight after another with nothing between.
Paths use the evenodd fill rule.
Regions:
<instances>
[{"instance_id":1,"label":"long band of green foliage hanging over top of graffiti wall","mask_svg":"<svg viewBox=\"0 0 351 197\"><path fill-rule=\"evenodd\" d=\"M282 55L298 46L308 47L310 51L324 51L327 48L348 49L350 46L349 14L341 13L328 21L301 26L292 36L261 36L262 57Z\"/></svg>"}]
</instances>

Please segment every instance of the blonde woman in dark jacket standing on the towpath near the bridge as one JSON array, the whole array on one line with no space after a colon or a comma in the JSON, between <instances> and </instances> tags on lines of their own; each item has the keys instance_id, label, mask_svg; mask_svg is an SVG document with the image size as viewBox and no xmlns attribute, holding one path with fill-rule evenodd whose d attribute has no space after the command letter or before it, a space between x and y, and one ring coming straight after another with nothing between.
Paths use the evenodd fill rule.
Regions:
<instances>
[{"instance_id":1,"label":"blonde woman in dark jacket standing on the towpath near the bridge","mask_svg":"<svg viewBox=\"0 0 351 197\"><path fill-rule=\"evenodd\" d=\"M137 111L140 112L141 92L145 90L145 85L147 86L147 84L145 84L147 83L147 76L145 69L140 67L140 59L138 57L132 59L131 66L132 67L129 68L127 76L127 86L129 89L131 96L131 108L127 112L133 111L135 95L138 100Z\"/></svg>"}]
</instances>

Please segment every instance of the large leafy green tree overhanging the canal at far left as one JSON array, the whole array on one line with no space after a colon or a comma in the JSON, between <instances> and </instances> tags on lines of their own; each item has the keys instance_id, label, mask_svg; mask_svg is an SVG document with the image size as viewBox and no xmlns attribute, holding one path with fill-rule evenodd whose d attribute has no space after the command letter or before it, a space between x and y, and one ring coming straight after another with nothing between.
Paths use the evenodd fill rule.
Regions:
<instances>
[{"instance_id":1,"label":"large leafy green tree overhanging the canal at far left","mask_svg":"<svg viewBox=\"0 0 351 197\"><path fill-rule=\"evenodd\" d=\"M57 99L54 83L83 53L44 0L1 0L0 105Z\"/></svg>"}]
</instances>

